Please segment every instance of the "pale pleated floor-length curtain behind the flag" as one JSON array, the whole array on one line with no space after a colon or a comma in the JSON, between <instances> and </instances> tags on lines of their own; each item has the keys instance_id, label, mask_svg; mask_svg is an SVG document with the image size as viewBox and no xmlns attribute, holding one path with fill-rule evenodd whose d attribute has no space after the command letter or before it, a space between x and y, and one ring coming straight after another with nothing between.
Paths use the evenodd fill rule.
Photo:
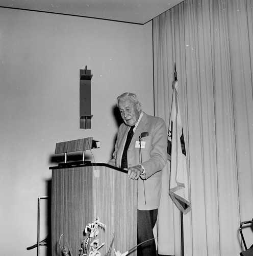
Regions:
<instances>
[{"instance_id":1,"label":"pale pleated floor-length curtain behind the flag","mask_svg":"<svg viewBox=\"0 0 253 256\"><path fill-rule=\"evenodd\" d=\"M239 256L253 218L253 0L185 0L153 20L155 115L169 124L174 66L192 209L185 256ZM180 211L163 169L158 252L181 255ZM246 228L248 245L253 231Z\"/></svg>"}]
</instances>

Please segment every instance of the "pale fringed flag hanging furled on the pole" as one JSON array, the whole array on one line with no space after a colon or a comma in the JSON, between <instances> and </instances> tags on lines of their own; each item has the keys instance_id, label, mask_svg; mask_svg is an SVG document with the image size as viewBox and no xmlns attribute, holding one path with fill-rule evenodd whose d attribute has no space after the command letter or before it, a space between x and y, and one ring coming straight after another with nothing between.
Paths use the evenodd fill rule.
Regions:
<instances>
[{"instance_id":1,"label":"pale fringed flag hanging furled on the pole","mask_svg":"<svg viewBox=\"0 0 253 256\"><path fill-rule=\"evenodd\" d=\"M178 100L178 80L174 83L172 109L168 131L168 159L170 160L169 195L176 206L187 214L191 210L186 151Z\"/></svg>"}]
</instances>

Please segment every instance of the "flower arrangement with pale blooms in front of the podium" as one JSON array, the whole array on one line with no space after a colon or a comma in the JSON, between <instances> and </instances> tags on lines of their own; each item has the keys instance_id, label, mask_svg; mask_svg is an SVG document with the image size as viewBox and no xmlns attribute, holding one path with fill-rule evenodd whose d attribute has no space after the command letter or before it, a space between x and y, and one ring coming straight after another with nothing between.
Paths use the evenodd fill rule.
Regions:
<instances>
[{"instance_id":1,"label":"flower arrangement with pale blooms in front of the podium","mask_svg":"<svg viewBox=\"0 0 253 256\"><path fill-rule=\"evenodd\" d=\"M79 249L79 256L101 256L101 252L99 251L99 249L102 246L104 246L105 243L102 243L101 245L99 245L99 240L96 238L99 233L99 230L98 230L99 227L106 230L106 225L103 224L102 222L100 222L98 217L95 221L93 221L92 223L89 223L88 226L85 227L86 236L84 237L84 240L81 244L81 248ZM61 244L62 236L63 236L63 234L61 234L61 237L59 240L59 245L60 245L63 255L64 256L74 256L69 245L62 246L62 244ZM152 239L149 239L149 240L152 240ZM147 240L147 241L149 241L149 240ZM142 242L142 243L134 246L133 248L131 248L129 251L121 253L119 250L116 251L115 248L113 248L113 241L114 241L114 237L113 237L113 240L111 242L108 252L104 256L112 256L113 250L114 250L115 256L126 256L130 252L134 251L137 246L147 242L147 241Z\"/></svg>"}]
</instances>

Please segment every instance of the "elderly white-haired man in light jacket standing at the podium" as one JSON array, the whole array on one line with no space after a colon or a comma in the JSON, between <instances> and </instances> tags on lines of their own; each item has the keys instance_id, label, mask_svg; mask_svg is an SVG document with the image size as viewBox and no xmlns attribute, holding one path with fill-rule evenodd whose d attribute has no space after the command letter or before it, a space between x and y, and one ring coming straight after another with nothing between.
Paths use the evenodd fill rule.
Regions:
<instances>
[{"instance_id":1,"label":"elderly white-haired man in light jacket standing at the podium","mask_svg":"<svg viewBox=\"0 0 253 256\"><path fill-rule=\"evenodd\" d=\"M147 115L134 93L117 97L123 123L113 159L109 164L128 169L129 179L138 179L137 243L154 238L153 228L161 196L161 172L167 162L167 131L163 119ZM154 240L137 248L138 256L155 256Z\"/></svg>"}]
</instances>

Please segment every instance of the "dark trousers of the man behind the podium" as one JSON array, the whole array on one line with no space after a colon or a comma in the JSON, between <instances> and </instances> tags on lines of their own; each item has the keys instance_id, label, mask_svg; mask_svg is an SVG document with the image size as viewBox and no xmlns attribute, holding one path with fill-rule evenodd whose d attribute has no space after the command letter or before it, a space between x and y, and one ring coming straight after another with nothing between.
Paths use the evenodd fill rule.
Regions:
<instances>
[{"instance_id":1,"label":"dark trousers of the man behind the podium","mask_svg":"<svg viewBox=\"0 0 253 256\"><path fill-rule=\"evenodd\" d=\"M157 209L138 210L137 214L137 244L154 238L153 228L157 221ZM137 256L156 256L155 239L145 242L137 247Z\"/></svg>"}]
</instances>

